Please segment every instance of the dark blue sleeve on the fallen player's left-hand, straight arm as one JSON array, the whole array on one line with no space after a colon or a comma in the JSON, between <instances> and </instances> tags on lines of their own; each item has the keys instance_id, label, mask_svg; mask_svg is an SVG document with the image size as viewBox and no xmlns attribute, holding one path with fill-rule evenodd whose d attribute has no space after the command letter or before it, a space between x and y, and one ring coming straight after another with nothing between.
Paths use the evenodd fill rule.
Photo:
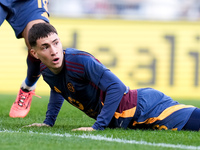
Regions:
<instances>
[{"instance_id":1,"label":"dark blue sleeve on the fallen player's left-hand, straight arm","mask_svg":"<svg viewBox=\"0 0 200 150\"><path fill-rule=\"evenodd\" d=\"M64 98L59 93L56 93L51 89L46 118L44 120L45 124L48 124L49 126L53 126L55 124L63 102Z\"/></svg>"}]
</instances>

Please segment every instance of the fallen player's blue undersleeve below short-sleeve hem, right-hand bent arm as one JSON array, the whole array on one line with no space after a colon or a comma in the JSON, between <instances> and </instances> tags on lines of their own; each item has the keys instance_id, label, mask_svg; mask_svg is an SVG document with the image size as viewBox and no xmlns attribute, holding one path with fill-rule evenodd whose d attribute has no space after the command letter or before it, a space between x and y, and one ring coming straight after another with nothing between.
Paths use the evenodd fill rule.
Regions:
<instances>
[{"instance_id":1,"label":"fallen player's blue undersleeve below short-sleeve hem, right-hand bent arm","mask_svg":"<svg viewBox=\"0 0 200 150\"><path fill-rule=\"evenodd\" d=\"M95 130L104 130L117 110L119 103L126 91L126 86L111 71L105 71L99 81L99 87L106 92L104 106L92 126Z\"/></svg>"}]
</instances>

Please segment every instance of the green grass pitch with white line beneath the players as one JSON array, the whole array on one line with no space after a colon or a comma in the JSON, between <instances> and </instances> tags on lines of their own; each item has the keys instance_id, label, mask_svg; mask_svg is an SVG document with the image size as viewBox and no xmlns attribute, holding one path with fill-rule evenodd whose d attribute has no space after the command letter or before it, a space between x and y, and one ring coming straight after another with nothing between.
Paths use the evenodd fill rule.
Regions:
<instances>
[{"instance_id":1,"label":"green grass pitch with white line beneath the players","mask_svg":"<svg viewBox=\"0 0 200 150\"><path fill-rule=\"evenodd\" d=\"M71 131L95 121L64 103L54 127L23 128L45 119L48 97L34 97L25 118L10 118L15 95L0 95L0 150L177 150L200 149L200 132L105 129ZM179 101L200 107L200 101Z\"/></svg>"}]
</instances>

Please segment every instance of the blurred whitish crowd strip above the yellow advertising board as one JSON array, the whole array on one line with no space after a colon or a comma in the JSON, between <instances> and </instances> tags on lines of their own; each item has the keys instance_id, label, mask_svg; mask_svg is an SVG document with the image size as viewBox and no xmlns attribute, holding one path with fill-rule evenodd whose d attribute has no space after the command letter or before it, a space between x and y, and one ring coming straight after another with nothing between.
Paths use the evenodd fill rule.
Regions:
<instances>
[{"instance_id":1,"label":"blurred whitish crowd strip above the yellow advertising board","mask_svg":"<svg viewBox=\"0 0 200 150\"><path fill-rule=\"evenodd\" d=\"M199 0L56 0L49 1L52 16L93 19L200 19Z\"/></svg>"}]
</instances>

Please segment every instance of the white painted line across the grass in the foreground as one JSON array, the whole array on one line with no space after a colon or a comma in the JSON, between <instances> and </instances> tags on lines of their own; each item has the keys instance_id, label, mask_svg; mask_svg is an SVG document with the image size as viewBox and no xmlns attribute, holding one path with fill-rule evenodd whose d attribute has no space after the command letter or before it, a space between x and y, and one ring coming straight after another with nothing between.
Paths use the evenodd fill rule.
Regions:
<instances>
[{"instance_id":1,"label":"white painted line across the grass in the foreground","mask_svg":"<svg viewBox=\"0 0 200 150\"><path fill-rule=\"evenodd\" d=\"M174 149L189 149L189 150L200 150L200 146L192 146L192 145L181 145L181 144L167 144L167 143L151 143L146 141L136 141L136 140L126 140L120 138L112 138L106 137L101 135L92 135L92 134L59 134L59 133L40 133L40 132L21 132L21 131L9 131L4 130L0 131L0 133L28 133L28 134L38 134L38 135L48 135L48 136L55 136L55 137L77 137L82 139L91 139L97 141L109 141L109 142L117 142L117 143L125 143L125 144L136 144L136 145L147 145L147 146L155 146L155 147L165 147L165 148L174 148Z\"/></svg>"}]
</instances>

